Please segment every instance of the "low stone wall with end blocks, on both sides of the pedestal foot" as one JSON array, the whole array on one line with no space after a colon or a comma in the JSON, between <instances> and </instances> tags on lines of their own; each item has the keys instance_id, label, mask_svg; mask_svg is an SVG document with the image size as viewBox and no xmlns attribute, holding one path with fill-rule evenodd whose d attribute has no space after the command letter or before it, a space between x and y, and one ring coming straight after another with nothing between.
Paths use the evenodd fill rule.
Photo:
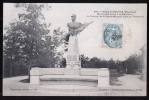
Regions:
<instances>
[{"instance_id":1,"label":"low stone wall with end blocks, on both sides of the pedestal foot","mask_svg":"<svg viewBox=\"0 0 149 100\"><path fill-rule=\"evenodd\" d=\"M72 69L73 70L73 69ZM39 84L40 78L72 79L72 80L98 80L98 87L109 86L108 68L81 68L78 75L65 74L67 68L32 68L30 71L30 84ZM50 79L51 78L51 79Z\"/></svg>"}]
</instances>

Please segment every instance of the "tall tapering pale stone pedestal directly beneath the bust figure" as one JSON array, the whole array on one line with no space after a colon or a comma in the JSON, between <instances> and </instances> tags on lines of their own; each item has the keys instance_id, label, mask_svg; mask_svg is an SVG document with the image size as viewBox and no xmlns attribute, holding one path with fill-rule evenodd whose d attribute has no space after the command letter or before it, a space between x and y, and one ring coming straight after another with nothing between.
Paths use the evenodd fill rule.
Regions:
<instances>
[{"instance_id":1,"label":"tall tapering pale stone pedestal directly beneath the bust figure","mask_svg":"<svg viewBox=\"0 0 149 100\"><path fill-rule=\"evenodd\" d=\"M68 52L66 55L66 71L68 75L79 75L81 61L79 59L79 49L77 36L70 36L68 44Z\"/></svg>"}]
</instances>

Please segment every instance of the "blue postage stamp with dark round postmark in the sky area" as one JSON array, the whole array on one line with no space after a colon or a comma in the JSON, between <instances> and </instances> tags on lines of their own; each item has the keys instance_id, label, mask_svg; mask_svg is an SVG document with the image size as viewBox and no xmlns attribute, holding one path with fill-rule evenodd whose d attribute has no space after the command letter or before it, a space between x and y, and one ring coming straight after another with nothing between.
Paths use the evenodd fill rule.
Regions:
<instances>
[{"instance_id":1,"label":"blue postage stamp with dark round postmark in the sky area","mask_svg":"<svg viewBox=\"0 0 149 100\"><path fill-rule=\"evenodd\" d=\"M105 47L122 48L122 24L103 24L103 43Z\"/></svg>"}]
</instances>

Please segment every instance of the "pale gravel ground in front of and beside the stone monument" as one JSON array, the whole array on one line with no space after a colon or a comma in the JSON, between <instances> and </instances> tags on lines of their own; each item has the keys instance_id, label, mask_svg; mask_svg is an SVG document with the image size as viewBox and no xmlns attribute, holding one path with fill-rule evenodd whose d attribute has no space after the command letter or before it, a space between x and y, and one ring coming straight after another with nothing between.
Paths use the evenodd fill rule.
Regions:
<instances>
[{"instance_id":1,"label":"pale gravel ground in front of and beside the stone monument","mask_svg":"<svg viewBox=\"0 0 149 100\"><path fill-rule=\"evenodd\" d=\"M110 87L73 84L30 85L27 76L3 79L3 96L145 96L146 82L138 75L124 75ZM73 82L72 82L73 83ZM80 84L83 84L80 82ZM91 83L90 83L91 84Z\"/></svg>"}]
</instances>

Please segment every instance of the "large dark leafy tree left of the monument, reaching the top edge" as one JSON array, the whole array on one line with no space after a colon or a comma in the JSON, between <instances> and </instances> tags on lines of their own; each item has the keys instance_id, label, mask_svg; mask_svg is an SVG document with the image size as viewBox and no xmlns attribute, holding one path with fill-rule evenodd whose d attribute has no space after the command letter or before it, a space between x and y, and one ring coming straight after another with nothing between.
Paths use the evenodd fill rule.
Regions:
<instances>
[{"instance_id":1,"label":"large dark leafy tree left of the monument, reaching the top edge","mask_svg":"<svg viewBox=\"0 0 149 100\"><path fill-rule=\"evenodd\" d=\"M42 9L45 5L23 3L15 6L23 11L18 14L18 19L5 28L4 69L9 69L9 76L12 76L13 71L22 66L28 69L28 74L34 66L54 67L58 59L55 49L60 42L52 37L50 26L44 21ZM55 32L62 34L60 29Z\"/></svg>"}]
</instances>

